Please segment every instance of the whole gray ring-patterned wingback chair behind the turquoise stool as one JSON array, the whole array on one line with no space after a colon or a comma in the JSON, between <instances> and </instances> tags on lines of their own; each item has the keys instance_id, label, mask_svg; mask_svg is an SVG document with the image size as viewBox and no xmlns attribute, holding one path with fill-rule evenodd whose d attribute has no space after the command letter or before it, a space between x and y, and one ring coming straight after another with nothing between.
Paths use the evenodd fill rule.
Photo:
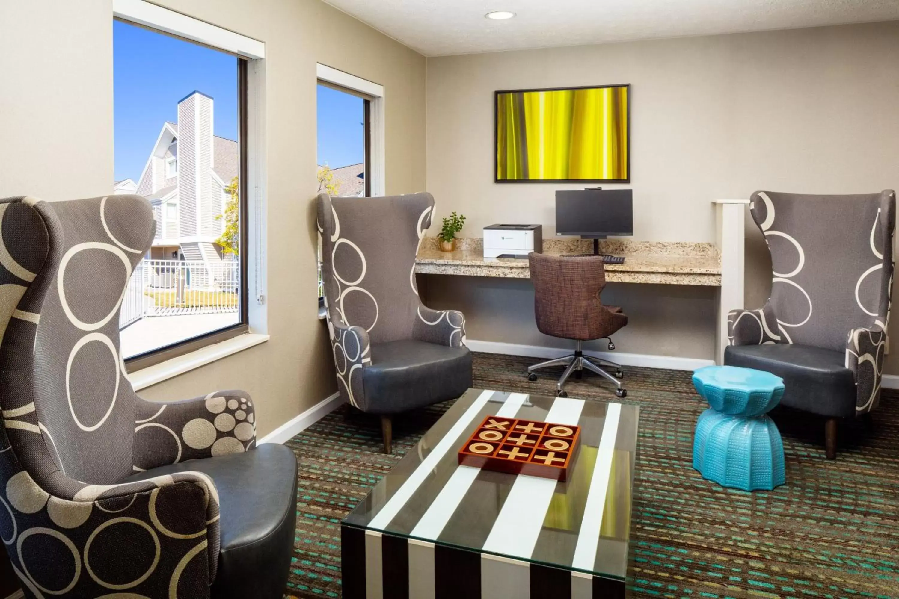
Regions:
<instances>
[{"instance_id":1,"label":"whole gray ring-patterned wingback chair behind the turquoise stool","mask_svg":"<svg viewBox=\"0 0 899 599\"><path fill-rule=\"evenodd\" d=\"M893 287L895 192L752 194L752 218L771 254L768 303L728 314L725 364L784 378L784 405L827 418L827 457L838 418L880 399Z\"/></svg>"}]
</instances>

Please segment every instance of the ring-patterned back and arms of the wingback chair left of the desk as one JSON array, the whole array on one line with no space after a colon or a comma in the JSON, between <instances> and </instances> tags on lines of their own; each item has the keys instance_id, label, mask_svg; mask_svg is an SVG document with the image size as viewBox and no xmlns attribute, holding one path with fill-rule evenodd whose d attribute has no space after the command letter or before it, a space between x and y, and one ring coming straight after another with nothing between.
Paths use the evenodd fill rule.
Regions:
<instances>
[{"instance_id":1,"label":"ring-patterned back and arms of the wingback chair left of the desk","mask_svg":"<svg viewBox=\"0 0 899 599\"><path fill-rule=\"evenodd\" d=\"M337 389L360 410L378 410L369 405L362 385L372 343L420 339L450 348L465 345L462 313L427 308L415 285L415 255L433 210L429 193L365 202L327 194L317 199L325 317ZM376 220L381 225L372 227Z\"/></svg>"}]
</instances>

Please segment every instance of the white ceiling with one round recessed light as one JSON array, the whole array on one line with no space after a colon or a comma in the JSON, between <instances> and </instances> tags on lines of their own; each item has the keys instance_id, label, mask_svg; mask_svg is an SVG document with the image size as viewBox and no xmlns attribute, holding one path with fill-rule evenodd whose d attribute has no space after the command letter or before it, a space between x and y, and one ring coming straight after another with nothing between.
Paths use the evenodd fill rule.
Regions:
<instances>
[{"instance_id":1,"label":"white ceiling with one round recessed light","mask_svg":"<svg viewBox=\"0 0 899 599\"><path fill-rule=\"evenodd\" d=\"M899 0L325 1L425 56L899 20Z\"/></svg>"}]
</instances>

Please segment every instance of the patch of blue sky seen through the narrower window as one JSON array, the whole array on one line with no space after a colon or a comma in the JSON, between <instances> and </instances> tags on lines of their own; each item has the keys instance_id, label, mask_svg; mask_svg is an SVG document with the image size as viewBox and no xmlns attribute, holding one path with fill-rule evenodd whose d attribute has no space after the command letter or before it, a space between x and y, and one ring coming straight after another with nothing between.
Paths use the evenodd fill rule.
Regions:
<instances>
[{"instance_id":1,"label":"patch of blue sky seen through the narrower window","mask_svg":"<svg viewBox=\"0 0 899 599\"><path fill-rule=\"evenodd\" d=\"M364 101L319 85L317 102L318 163L335 169L365 160Z\"/></svg>"}]
</instances>

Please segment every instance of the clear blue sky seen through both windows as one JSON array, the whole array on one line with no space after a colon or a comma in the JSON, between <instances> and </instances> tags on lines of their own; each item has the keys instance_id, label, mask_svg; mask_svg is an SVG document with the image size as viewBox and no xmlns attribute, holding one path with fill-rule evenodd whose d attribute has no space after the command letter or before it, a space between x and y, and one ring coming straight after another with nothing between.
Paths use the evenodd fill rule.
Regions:
<instances>
[{"instance_id":1,"label":"clear blue sky seen through both windows","mask_svg":"<svg viewBox=\"0 0 899 599\"><path fill-rule=\"evenodd\" d=\"M163 122L198 90L215 101L215 135L237 138L237 58L189 41L112 23L115 181L138 182ZM333 168L364 160L363 101L318 86L317 162Z\"/></svg>"}]
</instances>

